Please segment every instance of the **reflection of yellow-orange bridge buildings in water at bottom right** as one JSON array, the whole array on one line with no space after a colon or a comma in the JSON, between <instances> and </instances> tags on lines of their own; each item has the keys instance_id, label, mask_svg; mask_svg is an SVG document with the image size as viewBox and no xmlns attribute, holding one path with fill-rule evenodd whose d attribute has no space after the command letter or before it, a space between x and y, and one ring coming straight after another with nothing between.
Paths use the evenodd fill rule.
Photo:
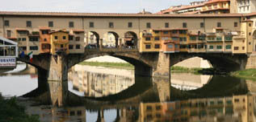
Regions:
<instances>
[{"instance_id":1,"label":"reflection of yellow-orange bridge buildings in water at bottom right","mask_svg":"<svg viewBox=\"0 0 256 122\"><path fill-rule=\"evenodd\" d=\"M141 103L140 121L255 122L256 94Z\"/></svg>"}]
</instances>

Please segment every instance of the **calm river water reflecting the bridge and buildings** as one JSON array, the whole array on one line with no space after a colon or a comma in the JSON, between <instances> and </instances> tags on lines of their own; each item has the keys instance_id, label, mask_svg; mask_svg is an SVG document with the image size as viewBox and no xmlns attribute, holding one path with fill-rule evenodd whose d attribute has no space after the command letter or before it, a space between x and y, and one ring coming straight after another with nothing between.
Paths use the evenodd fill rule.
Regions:
<instances>
[{"instance_id":1,"label":"calm river water reflecting the bridge and buildings","mask_svg":"<svg viewBox=\"0 0 256 122\"><path fill-rule=\"evenodd\" d=\"M2 75L0 92L7 97L23 96L38 87L37 81L37 75ZM191 73L172 73L169 80L134 76L134 71L124 69L76 65L66 85L69 105L65 107L23 97L19 104L45 122L256 122L256 82L251 80ZM53 101L57 87L65 82L49 86ZM40 92L36 98L44 96Z\"/></svg>"}]
</instances>

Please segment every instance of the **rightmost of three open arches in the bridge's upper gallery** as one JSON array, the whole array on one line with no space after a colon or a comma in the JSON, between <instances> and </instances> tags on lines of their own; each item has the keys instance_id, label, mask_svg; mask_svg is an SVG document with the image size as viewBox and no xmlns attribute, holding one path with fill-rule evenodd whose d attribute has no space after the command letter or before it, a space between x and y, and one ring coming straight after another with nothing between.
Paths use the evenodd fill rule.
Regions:
<instances>
[{"instance_id":1,"label":"rightmost of three open arches in the bridge's upper gallery","mask_svg":"<svg viewBox=\"0 0 256 122\"><path fill-rule=\"evenodd\" d=\"M136 48L138 44L138 36L133 31L124 33L124 46Z\"/></svg>"}]
</instances>

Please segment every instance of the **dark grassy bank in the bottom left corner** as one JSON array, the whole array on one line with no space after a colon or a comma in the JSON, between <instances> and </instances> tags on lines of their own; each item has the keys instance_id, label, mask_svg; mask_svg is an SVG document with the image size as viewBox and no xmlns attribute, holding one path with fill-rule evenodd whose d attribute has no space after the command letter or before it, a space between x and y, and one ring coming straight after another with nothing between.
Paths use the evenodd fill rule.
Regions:
<instances>
[{"instance_id":1,"label":"dark grassy bank in the bottom left corner","mask_svg":"<svg viewBox=\"0 0 256 122\"><path fill-rule=\"evenodd\" d=\"M0 94L0 122L39 122L38 116L28 116L15 98L4 100Z\"/></svg>"}]
</instances>

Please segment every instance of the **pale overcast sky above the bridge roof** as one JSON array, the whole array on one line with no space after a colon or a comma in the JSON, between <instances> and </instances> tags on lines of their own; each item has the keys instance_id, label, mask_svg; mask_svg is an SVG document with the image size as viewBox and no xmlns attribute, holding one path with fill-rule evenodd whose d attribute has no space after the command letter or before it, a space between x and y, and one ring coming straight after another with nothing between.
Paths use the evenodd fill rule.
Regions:
<instances>
[{"instance_id":1,"label":"pale overcast sky above the bridge roof","mask_svg":"<svg viewBox=\"0 0 256 122\"><path fill-rule=\"evenodd\" d=\"M188 5L199 0L0 0L0 11L156 13L170 6Z\"/></svg>"}]
</instances>

